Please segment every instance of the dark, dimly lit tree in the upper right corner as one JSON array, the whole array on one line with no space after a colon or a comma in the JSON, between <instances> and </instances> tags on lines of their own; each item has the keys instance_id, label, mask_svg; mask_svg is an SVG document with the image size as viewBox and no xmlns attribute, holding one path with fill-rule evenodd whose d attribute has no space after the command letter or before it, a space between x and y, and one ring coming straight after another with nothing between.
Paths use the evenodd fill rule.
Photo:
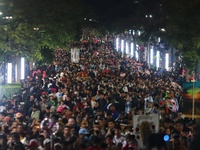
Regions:
<instances>
[{"instance_id":1,"label":"dark, dimly lit tree in the upper right corner","mask_svg":"<svg viewBox=\"0 0 200 150\"><path fill-rule=\"evenodd\" d=\"M200 1L170 0L165 4L166 38L176 47L187 68L193 70L200 60Z\"/></svg>"}]
</instances>

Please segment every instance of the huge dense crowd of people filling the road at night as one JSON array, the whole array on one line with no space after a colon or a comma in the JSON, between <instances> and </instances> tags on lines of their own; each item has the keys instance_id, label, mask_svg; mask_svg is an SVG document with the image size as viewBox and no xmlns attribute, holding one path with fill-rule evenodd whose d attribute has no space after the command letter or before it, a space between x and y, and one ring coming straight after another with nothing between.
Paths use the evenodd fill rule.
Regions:
<instances>
[{"instance_id":1,"label":"huge dense crowd of people filling the road at night","mask_svg":"<svg viewBox=\"0 0 200 150\"><path fill-rule=\"evenodd\" d=\"M199 130L182 116L179 77L113 47L84 41L79 63L59 49L52 64L31 70L23 92L0 101L0 150L137 150L137 114L160 116L170 139L153 146L195 150Z\"/></svg>"}]
</instances>

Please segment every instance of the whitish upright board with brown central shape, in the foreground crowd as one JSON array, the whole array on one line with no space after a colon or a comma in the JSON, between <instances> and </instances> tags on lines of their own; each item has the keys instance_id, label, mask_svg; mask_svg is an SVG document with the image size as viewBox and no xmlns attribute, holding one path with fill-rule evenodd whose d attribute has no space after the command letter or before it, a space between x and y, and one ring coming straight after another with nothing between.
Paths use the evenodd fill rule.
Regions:
<instances>
[{"instance_id":1,"label":"whitish upright board with brown central shape, in the foreground crowd","mask_svg":"<svg viewBox=\"0 0 200 150\"><path fill-rule=\"evenodd\" d=\"M153 133L159 131L159 115L134 115L133 116L133 132L138 141L139 148L146 148L149 137Z\"/></svg>"}]
</instances>

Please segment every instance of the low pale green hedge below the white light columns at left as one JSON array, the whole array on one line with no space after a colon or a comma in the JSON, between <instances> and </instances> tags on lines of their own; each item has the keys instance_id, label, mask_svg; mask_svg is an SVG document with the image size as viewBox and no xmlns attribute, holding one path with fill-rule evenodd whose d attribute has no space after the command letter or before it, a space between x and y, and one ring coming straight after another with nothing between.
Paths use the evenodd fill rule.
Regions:
<instances>
[{"instance_id":1,"label":"low pale green hedge below the white light columns at left","mask_svg":"<svg viewBox=\"0 0 200 150\"><path fill-rule=\"evenodd\" d=\"M21 94L21 84L20 83L12 83L6 85L0 85L0 99L2 99L3 95L7 97L8 100L13 98L13 95Z\"/></svg>"}]
</instances>

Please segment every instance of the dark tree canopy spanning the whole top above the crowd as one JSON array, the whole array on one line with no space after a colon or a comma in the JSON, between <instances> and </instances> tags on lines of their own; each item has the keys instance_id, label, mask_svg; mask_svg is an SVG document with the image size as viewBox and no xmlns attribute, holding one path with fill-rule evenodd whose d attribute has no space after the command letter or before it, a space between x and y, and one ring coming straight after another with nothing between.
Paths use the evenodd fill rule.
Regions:
<instances>
[{"instance_id":1,"label":"dark tree canopy spanning the whole top above the crowd","mask_svg":"<svg viewBox=\"0 0 200 150\"><path fill-rule=\"evenodd\" d=\"M1 0L0 47L40 58L41 47L67 48L80 40L84 27L115 33L134 29L143 31L143 40L160 36L169 41L185 63L195 65L200 60L199 6L198 0Z\"/></svg>"}]
</instances>

